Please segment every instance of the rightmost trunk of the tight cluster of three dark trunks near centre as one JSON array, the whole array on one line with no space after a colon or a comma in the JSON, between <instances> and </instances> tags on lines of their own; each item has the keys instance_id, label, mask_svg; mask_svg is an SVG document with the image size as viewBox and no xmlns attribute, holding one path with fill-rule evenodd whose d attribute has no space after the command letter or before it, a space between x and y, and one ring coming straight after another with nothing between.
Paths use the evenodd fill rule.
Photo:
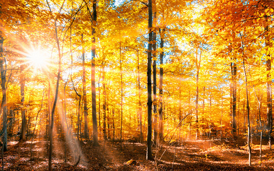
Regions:
<instances>
[{"instance_id":1,"label":"rightmost trunk of the tight cluster of three dark trunks near centre","mask_svg":"<svg viewBox=\"0 0 274 171\"><path fill-rule=\"evenodd\" d=\"M159 141L163 141L163 122L162 122L162 114L163 114L163 37L164 37L164 31L165 29L161 30L159 29L160 33L160 81L159 81Z\"/></svg>"}]
</instances>

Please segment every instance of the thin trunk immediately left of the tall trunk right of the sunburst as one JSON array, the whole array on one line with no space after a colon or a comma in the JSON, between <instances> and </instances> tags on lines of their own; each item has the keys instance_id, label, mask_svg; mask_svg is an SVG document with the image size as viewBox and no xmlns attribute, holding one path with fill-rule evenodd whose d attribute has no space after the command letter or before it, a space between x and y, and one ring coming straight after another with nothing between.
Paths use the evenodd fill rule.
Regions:
<instances>
[{"instance_id":1,"label":"thin trunk immediately left of the tall trunk right of the sunburst","mask_svg":"<svg viewBox=\"0 0 274 171\"><path fill-rule=\"evenodd\" d=\"M82 43L83 34L82 34ZM88 127L88 105L87 105L87 84L86 84L86 63L85 63L85 48L82 45L82 68L83 68L83 103L84 103L84 136L89 139L89 127Z\"/></svg>"}]
</instances>

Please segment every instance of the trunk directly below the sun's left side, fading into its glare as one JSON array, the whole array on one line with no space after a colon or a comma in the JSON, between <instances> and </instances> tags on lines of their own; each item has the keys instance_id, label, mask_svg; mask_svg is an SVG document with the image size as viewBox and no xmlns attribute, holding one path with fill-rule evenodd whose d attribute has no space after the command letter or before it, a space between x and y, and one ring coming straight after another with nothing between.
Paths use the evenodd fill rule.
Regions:
<instances>
[{"instance_id":1,"label":"trunk directly below the sun's left side, fading into its glare","mask_svg":"<svg viewBox=\"0 0 274 171\"><path fill-rule=\"evenodd\" d=\"M24 74L23 74L23 64L20 65L21 74L20 74L20 93L21 93L21 117L22 117L22 127L21 127L21 137L20 139L25 141L26 140L26 119L25 119L25 109L24 109L24 101L25 101L25 93L24 93L24 87L25 87L25 80L24 80Z\"/></svg>"}]
</instances>

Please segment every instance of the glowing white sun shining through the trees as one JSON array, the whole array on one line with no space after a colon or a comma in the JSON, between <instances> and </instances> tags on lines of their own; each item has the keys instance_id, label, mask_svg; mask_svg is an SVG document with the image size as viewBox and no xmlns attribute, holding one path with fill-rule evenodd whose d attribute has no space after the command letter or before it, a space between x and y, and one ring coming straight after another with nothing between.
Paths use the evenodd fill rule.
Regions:
<instances>
[{"instance_id":1,"label":"glowing white sun shining through the trees","mask_svg":"<svg viewBox=\"0 0 274 171\"><path fill-rule=\"evenodd\" d=\"M36 69L46 69L49 64L49 55L41 50L35 49L28 52L27 55L28 63Z\"/></svg>"}]
</instances>

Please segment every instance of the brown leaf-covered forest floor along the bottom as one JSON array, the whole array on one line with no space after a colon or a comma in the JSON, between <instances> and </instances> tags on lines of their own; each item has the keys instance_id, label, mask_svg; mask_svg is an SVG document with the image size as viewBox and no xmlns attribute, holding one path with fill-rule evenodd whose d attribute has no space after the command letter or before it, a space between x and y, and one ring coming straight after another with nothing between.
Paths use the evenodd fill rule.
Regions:
<instances>
[{"instance_id":1,"label":"brown leaf-covered forest floor along the bottom","mask_svg":"<svg viewBox=\"0 0 274 171\"><path fill-rule=\"evenodd\" d=\"M99 147L89 143L82 144L80 162L77 145L67 147L65 162L65 143L54 143L52 160L53 171L274 171L274 150L263 146L262 162L259 159L259 146L252 146L252 167L248 166L246 146L236 147L231 142L184 141L180 146L163 145L159 148L159 161L146 161L146 144L119 144L100 142ZM47 143L33 142L33 156L30 158L30 141L8 143L4 152L5 171L46 171L48 166ZM75 152L76 151L76 152ZM73 157L73 152L76 155ZM153 149L153 156L157 149ZM160 158L160 156L162 156ZM130 161L130 160L135 160ZM2 163L2 162L1 162ZM2 168L2 166L1 166Z\"/></svg>"}]
</instances>

